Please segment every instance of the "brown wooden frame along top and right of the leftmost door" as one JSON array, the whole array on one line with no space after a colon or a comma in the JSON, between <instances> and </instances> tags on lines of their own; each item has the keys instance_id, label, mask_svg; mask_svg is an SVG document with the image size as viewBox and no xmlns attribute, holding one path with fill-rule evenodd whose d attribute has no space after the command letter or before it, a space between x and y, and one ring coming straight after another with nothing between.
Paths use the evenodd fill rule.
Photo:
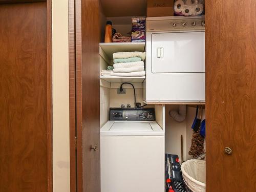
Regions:
<instances>
[{"instance_id":1,"label":"brown wooden frame along top and right of the leftmost door","mask_svg":"<svg viewBox=\"0 0 256 192\"><path fill-rule=\"evenodd\" d=\"M46 2L47 19L47 184L53 191L52 126L52 0L0 0L0 4Z\"/></svg>"}]
</instances>

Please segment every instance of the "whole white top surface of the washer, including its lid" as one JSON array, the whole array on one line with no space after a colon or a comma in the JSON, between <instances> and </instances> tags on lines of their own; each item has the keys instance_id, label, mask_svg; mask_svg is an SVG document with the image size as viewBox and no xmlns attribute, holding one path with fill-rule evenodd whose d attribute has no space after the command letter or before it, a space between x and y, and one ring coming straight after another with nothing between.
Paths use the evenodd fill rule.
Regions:
<instances>
[{"instance_id":1,"label":"whole white top surface of the washer, including its lid","mask_svg":"<svg viewBox=\"0 0 256 192\"><path fill-rule=\"evenodd\" d=\"M100 135L164 136L164 131L156 121L108 121Z\"/></svg>"}]
</instances>

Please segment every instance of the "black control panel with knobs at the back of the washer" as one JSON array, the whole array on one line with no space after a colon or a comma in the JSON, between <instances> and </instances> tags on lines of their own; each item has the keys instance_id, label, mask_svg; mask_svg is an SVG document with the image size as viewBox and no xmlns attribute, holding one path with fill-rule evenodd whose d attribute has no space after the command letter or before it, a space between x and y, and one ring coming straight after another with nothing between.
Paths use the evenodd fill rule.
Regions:
<instances>
[{"instance_id":1,"label":"black control panel with knobs at the back of the washer","mask_svg":"<svg viewBox=\"0 0 256 192\"><path fill-rule=\"evenodd\" d=\"M154 108L110 108L110 120L155 121Z\"/></svg>"}]
</instances>

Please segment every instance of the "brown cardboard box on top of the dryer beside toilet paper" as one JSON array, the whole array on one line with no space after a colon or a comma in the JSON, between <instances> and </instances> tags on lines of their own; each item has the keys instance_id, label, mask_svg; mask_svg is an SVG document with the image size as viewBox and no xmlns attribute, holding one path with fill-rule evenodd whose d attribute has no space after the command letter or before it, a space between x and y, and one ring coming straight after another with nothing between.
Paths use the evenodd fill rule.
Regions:
<instances>
[{"instance_id":1,"label":"brown cardboard box on top of the dryer beside toilet paper","mask_svg":"<svg viewBox=\"0 0 256 192\"><path fill-rule=\"evenodd\" d=\"M147 17L174 15L174 0L147 0Z\"/></svg>"}]
</instances>

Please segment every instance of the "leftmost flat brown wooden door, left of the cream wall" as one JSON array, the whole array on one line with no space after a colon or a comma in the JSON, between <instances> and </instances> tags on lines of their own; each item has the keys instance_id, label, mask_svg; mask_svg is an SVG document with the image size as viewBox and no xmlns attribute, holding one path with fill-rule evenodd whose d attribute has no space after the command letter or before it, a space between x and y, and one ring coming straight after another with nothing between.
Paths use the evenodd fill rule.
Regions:
<instances>
[{"instance_id":1,"label":"leftmost flat brown wooden door, left of the cream wall","mask_svg":"<svg viewBox=\"0 0 256 192\"><path fill-rule=\"evenodd\" d=\"M0 191L3 192L52 191L47 19L46 2L0 5Z\"/></svg>"}]
</instances>

